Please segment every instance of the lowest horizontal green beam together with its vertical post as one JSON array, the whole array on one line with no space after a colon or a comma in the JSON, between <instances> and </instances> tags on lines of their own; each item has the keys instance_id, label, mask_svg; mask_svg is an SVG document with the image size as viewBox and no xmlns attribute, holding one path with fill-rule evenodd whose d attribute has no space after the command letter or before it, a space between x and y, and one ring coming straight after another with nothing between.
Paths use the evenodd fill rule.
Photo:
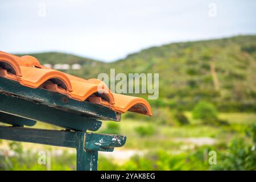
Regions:
<instances>
[{"instance_id":1,"label":"lowest horizontal green beam together with its vertical post","mask_svg":"<svg viewBox=\"0 0 256 182\"><path fill-rule=\"evenodd\" d=\"M122 147L126 142L126 137L122 135L7 126L0 126L0 139L76 148L77 170L79 171L97 170L98 151L113 151L114 147ZM101 143L100 147L98 143Z\"/></svg>"}]
</instances>

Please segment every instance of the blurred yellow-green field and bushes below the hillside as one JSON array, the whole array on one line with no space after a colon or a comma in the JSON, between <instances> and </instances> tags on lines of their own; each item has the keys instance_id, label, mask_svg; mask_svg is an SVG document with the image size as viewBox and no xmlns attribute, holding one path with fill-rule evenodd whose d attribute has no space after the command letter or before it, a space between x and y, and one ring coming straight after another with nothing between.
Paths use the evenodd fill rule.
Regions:
<instances>
[{"instance_id":1,"label":"blurred yellow-green field and bushes below the hillside","mask_svg":"<svg viewBox=\"0 0 256 182\"><path fill-rule=\"evenodd\" d=\"M229 126L221 127L205 125L193 119L191 113L185 115L191 121L190 125L166 126L126 118L115 126L108 122L104 123L100 133L117 131L127 135L127 142L121 151L135 152L134 156L127 160L119 159L118 154L115 154L117 158L109 158L102 155L104 152L100 152L99 169L256 170L255 114L221 113L218 117L229 118L230 123ZM37 125L39 124L38 127L49 127L42 123ZM201 143L205 139L216 142ZM2 140L2 143L5 142ZM30 143L8 144L9 150L0 150L0 170L76 169L74 150ZM38 163L39 151L47 152L46 165ZM139 154L139 151L144 151L144 154ZM209 164L210 151L216 151L216 164Z\"/></svg>"}]
</instances>

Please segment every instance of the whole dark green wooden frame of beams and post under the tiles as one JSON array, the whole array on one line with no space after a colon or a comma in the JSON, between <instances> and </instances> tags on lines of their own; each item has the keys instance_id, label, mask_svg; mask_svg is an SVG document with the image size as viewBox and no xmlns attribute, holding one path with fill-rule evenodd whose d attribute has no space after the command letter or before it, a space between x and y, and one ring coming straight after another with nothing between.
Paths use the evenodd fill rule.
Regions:
<instances>
[{"instance_id":1,"label":"whole dark green wooden frame of beams and post under the tiles","mask_svg":"<svg viewBox=\"0 0 256 182\"><path fill-rule=\"evenodd\" d=\"M123 135L88 133L101 127L99 120L120 121L117 113L63 94L28 88L0 77L0 139L71 147L77 151L77 170L97 170L98 151L112 152L126 142ZM32 129L36 121L63 127L65 131Z\"/></svg>"}]
</instances>

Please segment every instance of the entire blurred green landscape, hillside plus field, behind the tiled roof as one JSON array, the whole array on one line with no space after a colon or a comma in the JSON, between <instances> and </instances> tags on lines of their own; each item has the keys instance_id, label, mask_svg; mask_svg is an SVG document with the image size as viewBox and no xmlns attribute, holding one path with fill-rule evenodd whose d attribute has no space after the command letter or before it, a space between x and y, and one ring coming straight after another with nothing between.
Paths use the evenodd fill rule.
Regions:
<instances>
[{"instance_id":1,"label":"entire blurred green landscape, hillside plus field, behind the tiled roof","mask_svg":"<svg viewBox=\"0 0 256 182\"><path fill-rule=\"evenodd\" d=\"M109 74L110 68L116 74L159 73L159 98L149 100L153 117L126 113L122 122L104 121L97 131L127 136L117 152L100 153L100 170L256 170L256 36L151 47L113 63L58 52L27 54L42 64L81 64L66 72L84 78ZM39 150L52 154L51 170L76 168L74 151L2 140L0 169L49 169L38 164ZM209 151L216 151L217 164L209 164Z\"/></svg>"}]
</instances>

